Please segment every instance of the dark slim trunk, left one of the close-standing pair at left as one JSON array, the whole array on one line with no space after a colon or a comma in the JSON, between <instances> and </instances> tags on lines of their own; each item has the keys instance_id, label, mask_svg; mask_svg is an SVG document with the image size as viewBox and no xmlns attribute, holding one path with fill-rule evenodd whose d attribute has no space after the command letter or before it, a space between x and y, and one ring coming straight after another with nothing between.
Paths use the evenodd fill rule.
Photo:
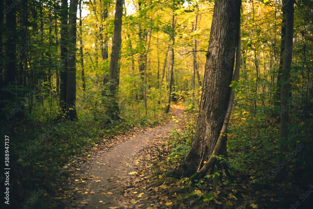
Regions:
<instances>
[{"instance_id":1,"label":"dark slim trunk, left one of the close-standing pair at left","mask_svg":"<svg viewBox=\"0 0 313 209\"><path fill-rule=\"evenodd\" d=\"M61 52L61 70L60 70L60 83L59 83L59 98L60 103L59 107L65 114L66 111L66 91L67 91L67 66L68 66L68 57L67 57L67 48L66 43L68 39L68 6L67 0L62 0L61 5L61 31L60 31L60 52Z\"/></svg>"}]
</instances>

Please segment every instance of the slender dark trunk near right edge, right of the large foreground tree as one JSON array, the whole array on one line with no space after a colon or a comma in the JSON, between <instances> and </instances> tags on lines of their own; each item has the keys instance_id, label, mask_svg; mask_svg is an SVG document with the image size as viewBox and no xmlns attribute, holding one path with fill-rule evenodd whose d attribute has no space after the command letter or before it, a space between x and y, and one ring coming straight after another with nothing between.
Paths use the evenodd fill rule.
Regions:
<instances>
[{"instance_id":1,"label":"slender dark trunk near right edge, right of the large foreground tree","mask_svg":"<svg viewBox=\"0 0 313 209\"><path fill-rule=\"evenodd\" d=\"M285 156L288 151L288 146L285 141L288 138L287 123L289 122L289 108L290 104L287 101L289 97L289 76L292 61L292 45L293 45L293 29L294 29L294 0L287 1L286 4L286 39L285 39L285 53L283 64L283 75L281 78L281 105L280 105L280 152L281 156ZM285 162L284 162L285 161ZM280 158L279 164L284 165L276 175L276 182L282 182L287 178L287 160Z\"/></svg>"}]
</instances>

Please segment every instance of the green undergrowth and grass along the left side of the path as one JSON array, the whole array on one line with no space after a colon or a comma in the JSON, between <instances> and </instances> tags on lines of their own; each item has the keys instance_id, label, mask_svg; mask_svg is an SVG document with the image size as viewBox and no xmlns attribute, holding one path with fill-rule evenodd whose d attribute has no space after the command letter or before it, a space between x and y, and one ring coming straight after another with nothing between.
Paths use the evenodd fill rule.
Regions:
<instances>
[{"instance_id":1,"label":"green undergrowth and grass along the left side of the path","mask_svg":"<svg viewBox=\"0 0 313 209\"><path fill-rule=\"evenodd\" d=\"M85 108L78 108L79 119L69 121L57 116L58 112L53 109L50 114L49 106L35 107L38 109L33 109L31 115L0 128L1 133L10 137L10 200L18 200L11 201L10 208L23 208L24 205L29 209L55 208L50 197L57 193L59 179L66 177L64 168L72 160L103 142L103 137L154 126L166 119L161 108L148 111L147 115L136 115L124 108L121 119L112 121L106 117L105 109L85 105ZM31 198L38 189L44 192L32 203Z\"/></svg>"}]
</instances>

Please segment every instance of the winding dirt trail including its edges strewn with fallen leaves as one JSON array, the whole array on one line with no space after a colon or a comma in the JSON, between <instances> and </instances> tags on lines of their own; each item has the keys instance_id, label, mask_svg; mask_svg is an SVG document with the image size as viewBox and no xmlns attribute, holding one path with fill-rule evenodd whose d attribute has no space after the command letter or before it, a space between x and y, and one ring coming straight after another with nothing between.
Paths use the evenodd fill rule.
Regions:
<instances>
[{"instance_id":1,"label":"winding dirt trail including its edges strewn with fallen leaves","mask_svg":"<svg viewBox=\"0 0 313 209\"><path fill-rule=\"evenodd\" d=\"M77 193L63 202L64 208L162 208L161 195L145 185L152 176L149 156L159 147L167 149L164 138L176 124L147 128L141 135L124 137L109 147L96 145L76 163L74 169L79 172L72 174L68 186Z\"/></svg>"}]
</instances>

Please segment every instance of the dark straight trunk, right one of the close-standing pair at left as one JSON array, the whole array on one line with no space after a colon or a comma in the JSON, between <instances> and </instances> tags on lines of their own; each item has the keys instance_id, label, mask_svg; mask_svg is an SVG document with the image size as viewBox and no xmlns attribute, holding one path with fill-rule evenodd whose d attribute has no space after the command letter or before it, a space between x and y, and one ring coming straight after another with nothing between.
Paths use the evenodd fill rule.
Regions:
<instances>
[{"instance_id":1,"label":"dark straight trunk, right one of the close-standing pair at left","mask_svg":"<svg viewBox=\"0 0 313 209\"><path fill-rule=\"evenodd\" d=\"M69 63L67 76L66 110L70 120L77 119L76 113L76 16L78 0L69 5Z\"/></svg>"}]
</instances>

